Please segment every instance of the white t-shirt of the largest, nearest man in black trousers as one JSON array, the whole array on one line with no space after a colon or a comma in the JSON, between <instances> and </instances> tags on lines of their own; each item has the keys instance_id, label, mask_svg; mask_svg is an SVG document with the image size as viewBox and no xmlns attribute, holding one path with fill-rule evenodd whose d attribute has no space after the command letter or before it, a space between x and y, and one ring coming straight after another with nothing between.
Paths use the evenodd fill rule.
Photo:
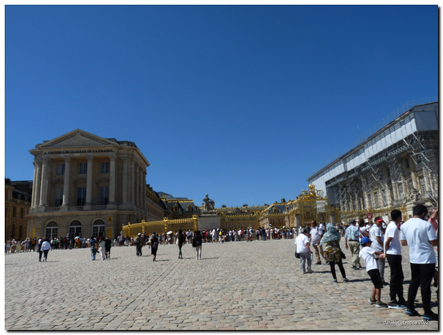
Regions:
<instances>
[{"instance_id":1,"label":"white t-shirt of the largest, nearest man in black trousers","mask_svg":"<svg viewBox=\"0 0 443 335\"><path fill-rule=\"evenodd\" d=\"M437 239L432 224L412 217L400 227L400 239L409 246L409 262L413 264L435 264L435 251L429 241Z\"/></svg>"}]
</instances>

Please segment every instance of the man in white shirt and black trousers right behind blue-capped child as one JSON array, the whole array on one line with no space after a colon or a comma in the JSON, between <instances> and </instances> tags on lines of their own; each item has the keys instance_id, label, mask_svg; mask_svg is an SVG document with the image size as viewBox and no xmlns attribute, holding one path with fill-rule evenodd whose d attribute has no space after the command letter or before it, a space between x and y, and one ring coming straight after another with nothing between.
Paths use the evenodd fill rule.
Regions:
<instances>
[{"instance_id":1,"label":"man in white shirt and black trousers right behind blue-capped child","mask_svg":"<svg viewBox=\"0 0 443 335\"><path fill-rule=\"evenodd\" d=\"M389 308L404 309L406 308L406 300L403 296L403 268L401 267L401 244L399 238L398 224L401 222L401 212L392 210L390 212L392 221L386 227L385 232L385 253L390 266L390 282L389 282ZM398 296L398 301L397 301Z\"/></svg>"}]
</instances>

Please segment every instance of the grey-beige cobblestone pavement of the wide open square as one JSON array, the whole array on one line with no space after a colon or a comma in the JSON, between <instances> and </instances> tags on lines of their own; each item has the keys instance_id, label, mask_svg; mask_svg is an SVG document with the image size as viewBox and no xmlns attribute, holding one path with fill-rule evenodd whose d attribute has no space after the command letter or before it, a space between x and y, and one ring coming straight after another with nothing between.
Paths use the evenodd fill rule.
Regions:
<instances>
[{"instance_id":1,"label":"grey-beige cobblestone pavement of the wide open square","mask_svg":"<svg viewBox=\"0 0 443 335\"><path fill-rule=\"evenodd\" d=\"M343 241L342 241L343 247ZM344 250L344 248L343 248ZM136 257L134 246L111 248L111 258L91 261L89 249L55 250L48 262L37 253L5 257L7 330L160 329L358 329L437 330L438 322L406 316L402 309L377 308L368 298L366 271L350 268L345 251L343 283L332 283L329 266L313 265L302 275L291 240L160 246ZM403 247L407 296L408 248ZM98 255L99 256L99 255ZM100 257L98 257L100 258ZM385 277L390 278L389 266ZM389 300L388 287L381 299ZM24 299L26 297L26 300ZM23 302L23 303L19 303ZM433 310L437 294L432 287ZM417 311L422 314L421 295ZM395 321L397 324L388 324ZM414 323L414 324L410 324Z\"/></svg>"}]
</instances>

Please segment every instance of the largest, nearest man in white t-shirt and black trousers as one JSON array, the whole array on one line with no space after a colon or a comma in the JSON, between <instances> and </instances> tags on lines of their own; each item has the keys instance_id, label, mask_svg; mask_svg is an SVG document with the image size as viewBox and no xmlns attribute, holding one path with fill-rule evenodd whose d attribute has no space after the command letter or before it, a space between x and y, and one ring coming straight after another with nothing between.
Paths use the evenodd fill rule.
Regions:
<instances>
[{"instance_id":1,"label":"largest, nearest man in white t-shirt and black trousers","mask_svg":"<svg viewBox=\"0 0 443 335\"><path fill-rule=\"evenodd\" d=\"M424 221L428 213L426 206L419 204L413 208L413 217L408 219L400 228L400 242L402 246L409 246L409 262L411 280L408 290L406 314L417 316L414 309L414 300L418 287L422 291L424 320L438 320L438 315L431 309L431 282L435 274L434 246L438 245L433 226Z\"/></svg>"}]
</instances>

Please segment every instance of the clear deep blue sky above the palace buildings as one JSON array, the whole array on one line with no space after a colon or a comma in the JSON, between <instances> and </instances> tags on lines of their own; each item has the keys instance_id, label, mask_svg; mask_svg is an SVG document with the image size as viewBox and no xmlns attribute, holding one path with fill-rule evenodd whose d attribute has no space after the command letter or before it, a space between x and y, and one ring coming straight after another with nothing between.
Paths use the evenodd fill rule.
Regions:
<instances>
[{"instance_id":1,"label":"clear deep blue sky above the palace buildings","mask_svg":"<svg viewBox=\"0 0 443 335\"><path fill-rule=\"evenodd\" d=\"M295 199L437 97L437 6L6 6L5 174L74 129L134 141L156 191Z\"/></svg>"}]
</instances>

